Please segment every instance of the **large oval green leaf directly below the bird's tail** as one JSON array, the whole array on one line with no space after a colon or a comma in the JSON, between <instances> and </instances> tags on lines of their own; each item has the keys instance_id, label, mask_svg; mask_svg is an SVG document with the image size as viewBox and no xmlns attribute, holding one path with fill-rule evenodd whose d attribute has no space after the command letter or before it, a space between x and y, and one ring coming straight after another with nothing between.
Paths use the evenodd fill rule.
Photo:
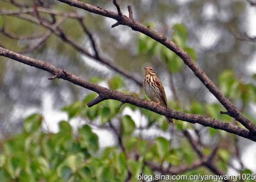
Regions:
<instances>
[{"instance_id":1,"label":"large oval green leaf directly below the bird's tail","mask_svg":"<svg viewBox=\"0 0 256 182\"><path fill-rule=\"evenodd\" d=\"M155 139L155 144L157 154L160 159L163 160L170 151L170 143L166 138L158 137L157 139Z\"/></svg>"}]
</instances>

